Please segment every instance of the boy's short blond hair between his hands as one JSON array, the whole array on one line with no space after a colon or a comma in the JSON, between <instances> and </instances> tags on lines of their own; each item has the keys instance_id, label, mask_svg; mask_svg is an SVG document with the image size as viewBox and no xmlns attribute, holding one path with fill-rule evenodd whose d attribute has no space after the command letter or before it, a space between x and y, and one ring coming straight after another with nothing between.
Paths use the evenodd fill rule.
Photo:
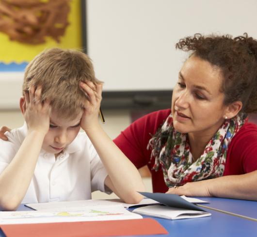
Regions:
<instances>
[{"instance_id":1,"label":"boy's short blond hair between his hands","mask_svg":"<svg viewBox=\"0 0 257 237\"><path fill-rule=\"evenodd\" d=\"M100 82L90 58L80 51L52 48L39 53L27 66L22 89L41 85L42 102L48 98L51 109L62 118L74 119L87 100L80 81Z\"/></svg>"}]
</instances>

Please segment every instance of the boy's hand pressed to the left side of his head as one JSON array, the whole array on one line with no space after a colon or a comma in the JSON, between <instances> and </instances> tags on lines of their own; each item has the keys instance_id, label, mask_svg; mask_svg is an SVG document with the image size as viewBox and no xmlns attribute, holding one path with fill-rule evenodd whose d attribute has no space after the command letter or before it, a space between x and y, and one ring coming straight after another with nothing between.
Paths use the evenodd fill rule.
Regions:
<instances>
[{"instance_id":1,"label":"boy's hand pressed to the left side of his head","mask_svg":"<svg viewBox=\"0 0 257 237\"><path fill-rule=\"evenodd\" d=\"M49 130L50 102L41 101L42 87L31 86L25 92L25 103L23 103L24 118L29 131L38 131L46 134Z\"/></svg>"}]
</instances>

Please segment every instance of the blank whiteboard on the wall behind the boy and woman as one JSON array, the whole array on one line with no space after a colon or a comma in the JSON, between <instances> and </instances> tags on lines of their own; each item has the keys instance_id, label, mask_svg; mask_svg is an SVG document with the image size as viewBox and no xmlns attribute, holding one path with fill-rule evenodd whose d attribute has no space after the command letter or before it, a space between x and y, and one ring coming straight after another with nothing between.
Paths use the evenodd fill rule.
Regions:
<instances>
[{"instance_id":1,"label":"blank whiteboard on the wall behind the boy and woman","mask_svg":"<svg viewBox=\"0 0 257 237\"><path fill-rule=\"evenodd\" d=\"M87 52L104 91L170 90L195 33L257 38L256 0L87 0Z\"/></svg>"}]
</instances>

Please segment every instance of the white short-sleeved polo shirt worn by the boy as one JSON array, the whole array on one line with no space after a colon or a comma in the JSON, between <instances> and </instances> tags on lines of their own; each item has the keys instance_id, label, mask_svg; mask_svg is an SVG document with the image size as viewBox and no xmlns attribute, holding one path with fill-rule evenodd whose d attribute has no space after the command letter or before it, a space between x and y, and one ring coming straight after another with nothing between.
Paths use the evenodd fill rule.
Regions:
<instances>
[{"instance_id":1,"label":"white short-sleeved polo shirt worn by the boy","mask_svg":"<svg viewBox=\"0 0 257 237\"><path fill-rule=\"evenodd\" d=\"M0 173L16 155L27 132L25 123L21 128L5 133L8 141L0 139ZM88 136L79 133L56 159L54 154L41 150L22 203L91 199L92 191L105 191L107 175Z\"/></svg>"}]
</instances>

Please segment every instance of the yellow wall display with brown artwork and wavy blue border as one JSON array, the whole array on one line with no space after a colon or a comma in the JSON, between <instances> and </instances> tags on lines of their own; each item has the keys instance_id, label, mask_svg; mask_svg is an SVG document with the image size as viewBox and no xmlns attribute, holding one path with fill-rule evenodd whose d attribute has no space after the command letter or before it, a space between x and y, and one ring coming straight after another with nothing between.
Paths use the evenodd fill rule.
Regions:
<instances>
[{"instance_id":1,"label":"yellow wall display with brown artwork and wavy blue border","mask_svg":"<svg viewBox=\"0 0 257 237\"><path fill-rule=\"evenodd\" d=\"M81 49L80 1L0 0L0 71L23 70L46 48Z\"/></svg>"}]
</instances>

